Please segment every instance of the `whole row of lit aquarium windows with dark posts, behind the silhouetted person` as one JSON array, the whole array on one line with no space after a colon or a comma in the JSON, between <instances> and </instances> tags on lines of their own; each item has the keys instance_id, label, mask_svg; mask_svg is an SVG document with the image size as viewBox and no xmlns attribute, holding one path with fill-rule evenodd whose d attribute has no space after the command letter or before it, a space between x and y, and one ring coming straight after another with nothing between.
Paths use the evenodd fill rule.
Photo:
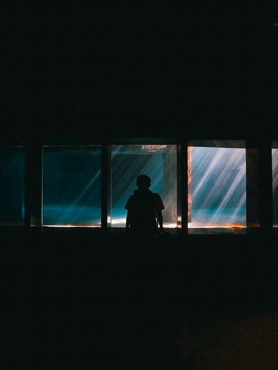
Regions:
<instances>
[{"instance_id":1,"label":"whole row of lit aquarium windows with dark posts, behind the silhouetted person","mask_svg":"<svg viewBox=\"0 0 278 370\"><path fill-rule=\"evenodd\" d=\"M177 139L44 144L0 147L0 225L89 226L98 232L102 223L102 231L112 226L108 232L117 233L125 227L136 178L146 174L165 205L165 228L181 227L181 216L185 233L186 226L189 233L278 227L277 141L272 163L270 141L251 140L246 149L245 141Z\"/></svg>"}]
</instances>

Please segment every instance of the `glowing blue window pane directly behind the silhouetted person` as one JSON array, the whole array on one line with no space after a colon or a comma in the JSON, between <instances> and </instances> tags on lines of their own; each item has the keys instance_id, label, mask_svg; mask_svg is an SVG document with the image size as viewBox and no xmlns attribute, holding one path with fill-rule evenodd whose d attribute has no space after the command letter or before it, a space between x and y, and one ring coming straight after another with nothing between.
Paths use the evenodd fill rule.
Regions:
<instances>
[{"instance_id":1,"label":"glowing blue window pane directly behind the silhouetted person","mask_svg":"<svg viewBox=\"0 0 278 370\"><path fill-rule=\"evenodd\" d=\"M176 171L176 145L112 145L112 226L125 227L125 205L138 189L136 178L147 175L150 191L160 195L165 207L163 226L177 227Z\"/></svg>"}]
</instances>

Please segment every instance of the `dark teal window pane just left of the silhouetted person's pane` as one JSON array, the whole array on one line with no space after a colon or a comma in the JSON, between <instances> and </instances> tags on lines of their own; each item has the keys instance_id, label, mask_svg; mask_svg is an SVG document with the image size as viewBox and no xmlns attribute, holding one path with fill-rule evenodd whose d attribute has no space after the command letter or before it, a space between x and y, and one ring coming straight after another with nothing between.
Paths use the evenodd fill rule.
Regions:
<instances>
[{"instance_id":1,"label":"dark teal window pane just left of the silhouetted person's pane","mask_svg":"<svg viewBox=\"0 0 278 370\"><path fill-rule=\"evenodd\" d=\"M43 225L100 227L100 145L43 147Z\"/></svg>"}]
</instances>

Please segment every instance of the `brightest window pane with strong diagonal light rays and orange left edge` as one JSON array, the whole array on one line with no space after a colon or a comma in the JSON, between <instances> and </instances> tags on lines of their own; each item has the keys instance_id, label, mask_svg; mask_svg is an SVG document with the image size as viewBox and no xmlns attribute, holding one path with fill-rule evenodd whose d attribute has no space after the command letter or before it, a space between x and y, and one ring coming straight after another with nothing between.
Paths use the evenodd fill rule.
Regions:
<instances>
[{"instance_id":1,"label":"brightest window pane with strong diagonal light rays and orange left edge","mask_svg":"<svg viewBox=\"0 0 278 370\"><path fill-rule=\"evenodd\" d=\"M192 209L188 227L246 227L245 149L189 147L190 150L188 203L191 198Z\"/></svg>"}]
</instances>

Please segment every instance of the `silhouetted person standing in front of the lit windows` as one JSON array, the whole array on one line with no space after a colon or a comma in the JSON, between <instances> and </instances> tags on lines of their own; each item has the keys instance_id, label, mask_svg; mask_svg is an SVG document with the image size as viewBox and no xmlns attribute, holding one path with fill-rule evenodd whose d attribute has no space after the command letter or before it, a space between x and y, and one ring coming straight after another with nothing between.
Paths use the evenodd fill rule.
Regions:
<instances>
[{"instance_id":1,"label":"silhouetted person standing in front of the lit windows","mask_svg":"<svg viewBox=\"0 0 278 370\"><path fill-rule=\"evenodd\" d=\"M125 209L128 210L126 216L126 231L136 235L154 236L159 231L163 231L162 209L164 205L160 196L150 191L150 178L140 175L137 178L137 190L133 191L126 203ZM158 223L157 223L158 220Z\"/></svg>"}]
</instances>

